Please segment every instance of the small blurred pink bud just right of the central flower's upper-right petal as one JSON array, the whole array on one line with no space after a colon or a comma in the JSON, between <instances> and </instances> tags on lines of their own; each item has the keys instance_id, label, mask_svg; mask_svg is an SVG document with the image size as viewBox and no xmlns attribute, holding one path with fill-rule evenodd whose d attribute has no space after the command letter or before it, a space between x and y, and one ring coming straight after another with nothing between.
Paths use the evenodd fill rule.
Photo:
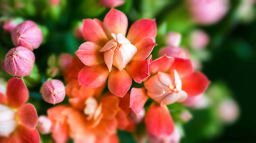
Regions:
<instances>
[{"instance_id":1,"label":"small blurred pink bud just right of the central flower's upper-right petal","mask_svg":"<svg viewBox=\"0 0 256 143\"><path fill-rule=\"evenodd\" d=\"M168 46L179 46L181 42L181 34L177 32L169 32L167 33L164 38L166 39L166 45Z\"/></svg>"}]
</instances>

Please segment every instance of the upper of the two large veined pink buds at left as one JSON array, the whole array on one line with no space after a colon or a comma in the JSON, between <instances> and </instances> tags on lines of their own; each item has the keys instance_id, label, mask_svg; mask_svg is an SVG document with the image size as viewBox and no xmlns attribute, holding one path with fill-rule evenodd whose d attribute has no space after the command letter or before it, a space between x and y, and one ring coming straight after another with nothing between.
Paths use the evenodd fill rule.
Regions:
<instances>
[{"instance_id":1,"label":"upper of the two large veined pink buds at left","mask_svg":"<svg viewBox=\"0 0 256 143\"><path fill-rule=\"evenodd\" d=\"M11 33L15 46L23 46L30 50L37 49L42 40L43 34L40 28L33 21L20 23Z\"/></svg>"}]
</instances>

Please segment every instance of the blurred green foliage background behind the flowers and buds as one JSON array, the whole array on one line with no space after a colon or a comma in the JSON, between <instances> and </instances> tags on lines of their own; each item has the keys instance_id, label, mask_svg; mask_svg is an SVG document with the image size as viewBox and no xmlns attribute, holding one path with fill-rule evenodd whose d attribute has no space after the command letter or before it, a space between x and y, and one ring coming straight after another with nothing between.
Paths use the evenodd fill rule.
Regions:
<instances>
[{"instance_id":1,"label":"blurred green foliage background behind the flowers and buds","mask_svg":"<svg viewBox=\"0 0 256 143\"><path fill-rule=\"evenodd\" d=\"M205 93L207 106L189 109L193 118L183 126L182 143L255 143L255 2L227 0L227 12L220 20L202 24L193 20L192 5L187 1L125 0L124 5L116 8L127 15L129 26L141 18L156 20L158 45L152 53L154 59L158 57L158 51L166 46L164 35L168 32L181 33L179 47L189 51L192 59L200 65L197 70L201 70L211 81ZM56 60L64 52L74 55L84 42L78 39L75 31L81 26L82 19L103 20L109 10L100 5L99 0L59 0L57 5L52 5L50 0L0 0L0 61L14 47L10 33L3 28L5 22L10 19L33 20L43 32L43 44L34 50L38 69L33 69L31 76L24 77L31 91L30 102L35 104L38 114L45 114L46 109L51 107L39 93L41 83L51 76L47 72L49 61ZM198 29L209 37L208 44L201 49L191 46L191 34ZM10 76L0 71L0 78L0 84L5 85ZM220 104L226 99L234 101L239 108L239 116L233 123L223 121L218 114ZM232 107L229 108L232 110ZM121 143L136 142L131 133L119 131L118 136ZM47 138L49 136L43 136L42 142L47 142Z\"/></svg>"}]
</instances>

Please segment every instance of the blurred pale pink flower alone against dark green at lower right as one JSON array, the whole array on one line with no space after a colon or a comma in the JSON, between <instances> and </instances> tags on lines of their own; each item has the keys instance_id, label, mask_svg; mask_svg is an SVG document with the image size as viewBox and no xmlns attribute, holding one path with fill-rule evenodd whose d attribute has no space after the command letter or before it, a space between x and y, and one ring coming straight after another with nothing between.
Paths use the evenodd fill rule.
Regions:
<instances>
[{"instance_id":1,"label":"blurred pale pink flower alone against dark green at lower right","mask_svg":"<svg viewBox=\"0 0 256 143\"><path fill-rule=\"evenodd\" d=\"M238 105L232 99L225 99L218 107L218 115L223 122L233 123L239 116Z\"/></svg>"}]
</instances>

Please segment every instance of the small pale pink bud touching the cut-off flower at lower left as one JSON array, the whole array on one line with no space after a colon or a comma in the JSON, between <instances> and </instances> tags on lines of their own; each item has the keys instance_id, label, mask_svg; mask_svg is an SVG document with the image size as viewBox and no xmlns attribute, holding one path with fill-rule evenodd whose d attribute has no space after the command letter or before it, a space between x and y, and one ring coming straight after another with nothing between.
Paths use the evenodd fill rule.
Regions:
<instances>
[{"instance_id":1,"label":"small pale pink bud touching the cut-off flower at lower left","mask_svg":"<svg viewBox=\"0 0 256 143\"><path fill-rule=\"evenodd\" d=\"M41 134L50 133L51 120L47 116L42 115L38 118L38 123L36 127Z\"/></svg>"}]
</instances>

